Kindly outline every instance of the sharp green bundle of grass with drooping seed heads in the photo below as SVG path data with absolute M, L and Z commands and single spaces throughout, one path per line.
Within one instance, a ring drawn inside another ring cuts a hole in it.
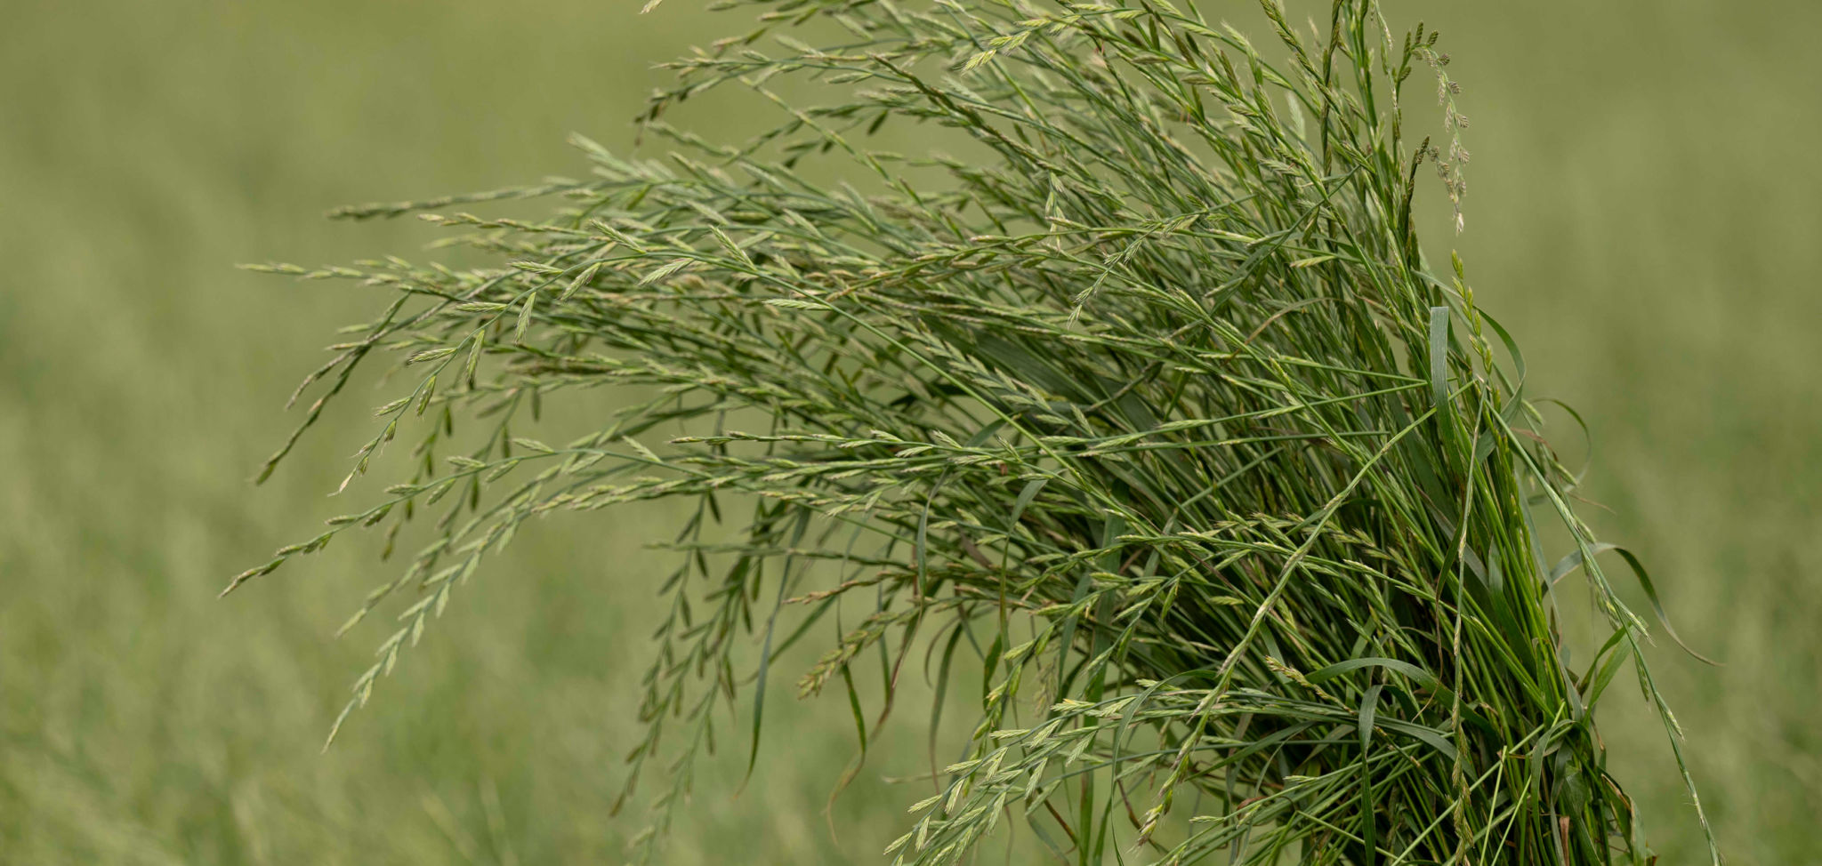
M 1434 33 L 1394 38 L 1370 0 L 1308 31 L 1266 0 L 1266 53 L 1170 0 L 722 5 L 758 25 L 676 64 L 643 116 L 667 160 L 583 140 L 587 180 L 343 211 L 425 213 L 499 266 L 266 266 L 395 295 L 304 382 L 304 428 L 375 351 L 415 382 L 350 480 L 419 426 L 410 475 L 233 582 L 434 524 L 355 615 L 417 593 L 350 710 L 527 519 L 680 498 L 630 755 L 667 777 L 647 853 L 712 710 L 738 700 L 758 750 L 769 668 L 829 635 L 800 688 L 845 691 L 862 742 L 907 660 L 984 679 L 895 862 L 1013 819 L 1084 864 L 1653 859 L 1592 722 L 1631 660 L 1676 748 L 1645 626 L 1518 347 L 1412 229 L 1423 164 L 1459 215 L 1467 162 Z M 1403 144 L 1414 73 L 1445 147 Z M 838 96 L 791 107 L 793 76 Z M 723 86 L 782 122 L 722 146 L 661 120 Z M 871 147 L 906 124 L 967 156 Z M 517 196 L 565 204 L 448 215 Z M 609 424 L 514 435 L 607 384 L 638 395 Z M 1554 564 L 1538 515 L 1569 529 Z M 1572 670 L 1551 604 L 1576 569 L 1611 639 Z

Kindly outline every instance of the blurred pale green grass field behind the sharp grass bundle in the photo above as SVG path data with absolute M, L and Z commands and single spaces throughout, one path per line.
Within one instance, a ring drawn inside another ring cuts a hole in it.
M 330 633 L 390 566 L 352 544 L 215 591 L 348 509 L 324 493 L 366 431 L 357 406 L 381 402 L 344 400 L 251 488 L 295 422 L 290 386 L 377 298 L 231 264 L 414 253 L 432 237 L 415 222 L 319 215 L 578 171 L 568 131 L 629 147 L 650 64 L 740 24 L 696 0 L 634 5 L 7 7 L 0 862 L 619 857 L 640 821 L 607 811 L 663 568 L 640 546 L 665 513 L 521 537 L 328 755 L 375 642 Z M 1592 522 L 1645 557 L 1684 637 L 1727 662 L 1700 668 L 1667 640 L 1653 655 L 1722 844 L 1735 862 L 1811 862 L 1822 7 L 1387 5 L 1456 56 L 1474 120 L 1456 244 L 1525 346 L 1534 393 L 1594 429 L 1589 491 L 1611 511 Z M 1250 2 L 1204 9 L 1263 31 Z M 1436 257 L 1450 238 L 1427 242 Z M 824 799 L 851 726 L 838 700 L 789 700 L 789 680 L 774 677 L 760 775 L 736 797 L 743 744 L 722 751 L 676 862 L 869 862 L 922 797 L 878 780 L 922 762 L 904 719 L 904 746 L 836 804 L 831 839 Z M 1614 771 L 1663 862 L 1700 862 L 1662 730 L 1636 699 L 1611 706 Z

